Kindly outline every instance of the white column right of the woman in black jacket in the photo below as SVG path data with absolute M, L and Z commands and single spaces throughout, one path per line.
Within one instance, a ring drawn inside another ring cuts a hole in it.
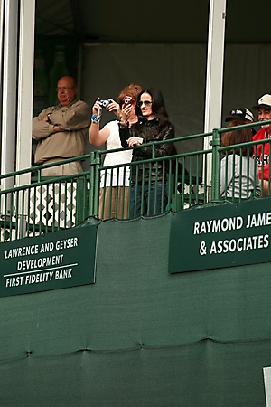
M 210 0 L 206 73 L 204 132 L 220 128 L 223 99 L 223 67 L 227 0 Z M 205 137 L 204 149 L 210 148 L 211 137 Z M 204 179 L 204 178 L 203 178 Z M 211 161 L 207 158 L 207 186 L 211 181 Z

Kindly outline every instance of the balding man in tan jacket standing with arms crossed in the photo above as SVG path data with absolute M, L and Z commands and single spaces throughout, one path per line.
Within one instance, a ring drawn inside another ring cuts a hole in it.
M 85 154 L 86 133 L 89 128 L 89 106 L 76 99 L 77 86 L 70 76 L 58 81 L 59 104 L 43 109 L 33 118 L 32 137 L 38 140 L 34 161 L 36 165 L 50 164 Z M 79 161 L 42 169 L 42 175 L 71 175 L 82 172 Z

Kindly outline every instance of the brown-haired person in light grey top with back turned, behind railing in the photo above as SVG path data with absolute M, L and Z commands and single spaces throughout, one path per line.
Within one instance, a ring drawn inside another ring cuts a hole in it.
M 230 130 L 235 126 L 240 126 L 238 120 L 231 120 L 228 128 L 229 132 L 222 137 L 222 147 L 229 147 L 236 144 L 248 143 L 252 141 L 250 128 L 240 128 Z M 249 198 L 259 196 L 261 189 L 257 177 L 255 161 L 251 158 L 253 147 L 230 148 L 225 151 L 225 156 L 220 162 L 220 194 L 226 198 Z

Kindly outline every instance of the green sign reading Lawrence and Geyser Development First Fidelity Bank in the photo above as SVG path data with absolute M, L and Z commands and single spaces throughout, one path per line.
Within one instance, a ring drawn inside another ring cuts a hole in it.
M 0 243 L 0 296 L 95 282 L 97 227 Z

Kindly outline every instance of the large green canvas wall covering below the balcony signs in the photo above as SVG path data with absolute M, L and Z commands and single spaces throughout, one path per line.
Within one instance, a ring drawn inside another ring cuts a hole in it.
M 1 407 L 266 406 L 270 264 L 169 274 L 171 219 L 102 222 L 95 284 L 0 298 Z

